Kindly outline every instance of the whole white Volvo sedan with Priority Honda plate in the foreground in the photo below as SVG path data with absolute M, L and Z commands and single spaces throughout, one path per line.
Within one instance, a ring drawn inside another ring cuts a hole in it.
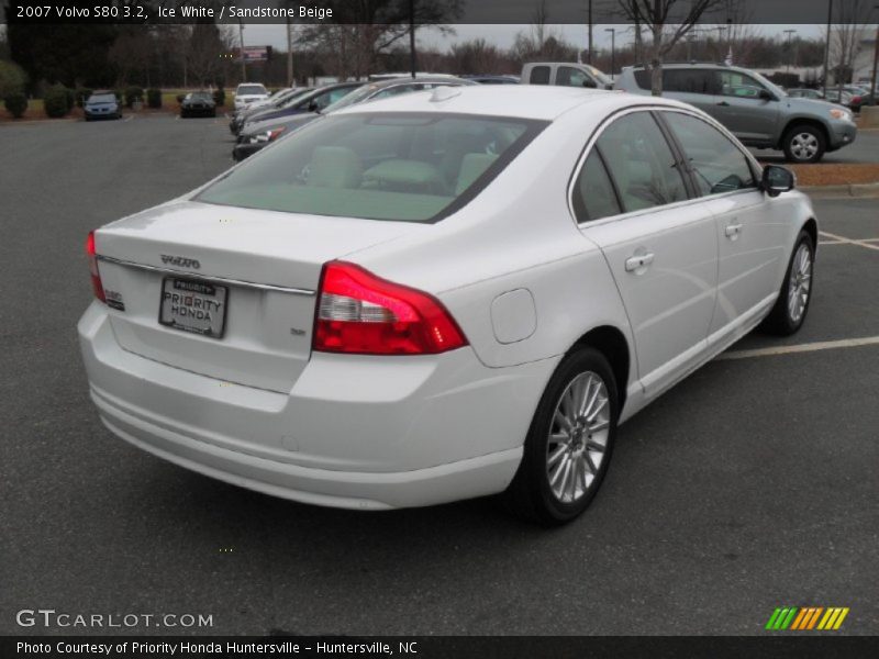
M 126 442 L 296 501 L 581 513 L 620 423 L 805 317 L 817 225 L 682 103 L 455 88 L 326 116 L 94 231 L 79 322 Z

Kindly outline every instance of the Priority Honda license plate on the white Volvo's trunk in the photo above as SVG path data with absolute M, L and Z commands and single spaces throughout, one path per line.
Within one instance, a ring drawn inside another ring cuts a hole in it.
M 229 292 L 227 286 L 211 281 L 188 277 L 164 277 L 158 304 L 158 323 L 179 332 L 221 339 L 226 330 Z M 175 294 L 179 298 L 175 299 Z M 209 317 L 203 317 L 205 314 L 209 314 Z

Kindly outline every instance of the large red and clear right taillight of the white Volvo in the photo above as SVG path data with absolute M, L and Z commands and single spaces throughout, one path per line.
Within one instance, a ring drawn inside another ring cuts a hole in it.
M 324 353 L 434 355 L 467 345 L 436 298 L 344 261 L 324 266 L 315 315 L 313 348 Z

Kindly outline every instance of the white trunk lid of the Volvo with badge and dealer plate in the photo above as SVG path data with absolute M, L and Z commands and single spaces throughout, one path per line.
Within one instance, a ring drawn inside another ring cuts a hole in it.
M 183 201 L 103 227 L 96 242 L 124 349 L 287 392 L 311 354 L 323 264 L 418 228 Z

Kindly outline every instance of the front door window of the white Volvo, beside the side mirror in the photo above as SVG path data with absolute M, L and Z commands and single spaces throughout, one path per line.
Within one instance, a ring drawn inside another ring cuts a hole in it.
M 680 112 L 664 112 L 663 116 L 690 161 L 701 196 L 757 187 L 748 159 L 717 129 Z

